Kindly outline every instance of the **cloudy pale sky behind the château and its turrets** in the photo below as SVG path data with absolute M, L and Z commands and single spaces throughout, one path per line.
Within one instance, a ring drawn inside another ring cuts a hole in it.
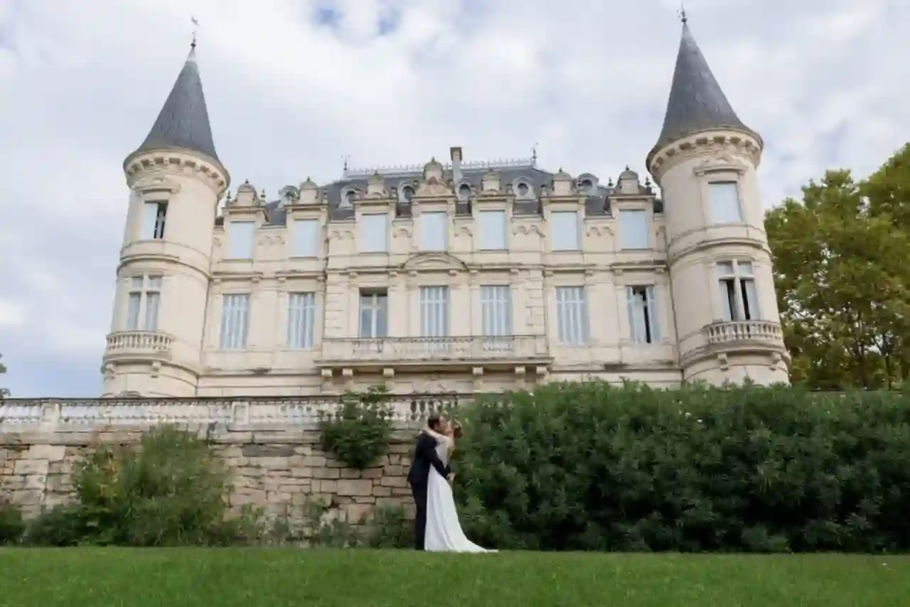
M 94 396 L 127 190 L 187 55 L 218 156 L 274 195 L 353 165 L 527 157 L 644 173 L 678 0 L 0 0 L 0 386 Z M 687 0 L 693 35 L 765 141 L 765 206 L 908 137 L 907 0 Z

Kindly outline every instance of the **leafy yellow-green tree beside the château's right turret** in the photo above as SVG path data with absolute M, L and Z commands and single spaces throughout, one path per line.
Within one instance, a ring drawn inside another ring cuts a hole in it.
M 802 201 L 766 214 L 795 381 L 875 388 L 910 375 L 910 207 L 893 196 L 904 184 L 893 173 L 856 183 L 848 170 L 827 171 Z

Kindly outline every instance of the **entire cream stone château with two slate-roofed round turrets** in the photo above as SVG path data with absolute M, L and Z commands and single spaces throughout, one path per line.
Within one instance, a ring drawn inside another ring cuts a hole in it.
M 785 382 L 762 151 L 683 25 L 653 183 L 451 147 L 445 165 L 232 195 L 194 50 L 124 163 L 102 391 Z

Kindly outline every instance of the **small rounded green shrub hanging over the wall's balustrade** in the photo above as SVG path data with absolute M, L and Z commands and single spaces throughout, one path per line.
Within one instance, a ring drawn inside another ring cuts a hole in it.
M 349 392 L 336 410 L 319 420 L 322 448 L 349 468 L 369 468 L 389 448 L 391 409 L 385 391 Z

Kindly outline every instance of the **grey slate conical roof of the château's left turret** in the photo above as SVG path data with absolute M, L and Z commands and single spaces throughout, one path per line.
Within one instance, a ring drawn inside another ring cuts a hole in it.
M 218 160 L 196 63 L 195 42 L 155 125 L 136 152 L 162 148 L 185 149 Z

